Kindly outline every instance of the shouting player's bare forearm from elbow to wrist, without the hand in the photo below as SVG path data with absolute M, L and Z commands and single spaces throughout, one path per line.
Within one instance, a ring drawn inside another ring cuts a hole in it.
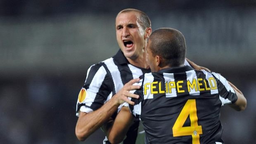
M 91 113 L 80 113 L 76 124 L 76 136 L 80 141 L 87 139 L 114 114 L 119 105 L 109 100 L 100 109 Z

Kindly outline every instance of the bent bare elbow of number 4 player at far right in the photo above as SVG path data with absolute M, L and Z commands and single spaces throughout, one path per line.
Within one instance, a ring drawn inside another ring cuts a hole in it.
M 243 111 L 247 106 L 247 100 L 244 97 L 244 94 L 232 83 L 228 82 L 230 86 L 235 90 L 237 94 L 237 101 L 234 104 L 230 104 L 230 107 L 235 109 L 236 111 Z

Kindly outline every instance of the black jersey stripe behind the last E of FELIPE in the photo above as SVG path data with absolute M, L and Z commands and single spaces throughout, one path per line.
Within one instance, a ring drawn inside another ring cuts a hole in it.
M 187 90 L 187 73 L 186 72 L 173 73 L 173 75 L 174 75 L 174 80 L 175 80 L 175 84 L 176 84 L 177 97 L 188 96 L 189 92 Z

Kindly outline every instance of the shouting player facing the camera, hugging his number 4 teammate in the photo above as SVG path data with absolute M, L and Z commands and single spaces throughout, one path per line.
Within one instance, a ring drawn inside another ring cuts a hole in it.
M 121 109 L 116 100 L 133 104 L 127 97 L 137 95 L 129 91 L 140 87 L 133 83 L 138 82 L 136 78 L 150 72 L 145 45 L 152 28 L 147 14 L 137 9 L 124 9 L 117 14 L 115 26 L 120 50 L 113 57 L 90 66 L 78 95 L 76 136 L 81 141 L 100 127 L 108 135 L 116 113 Z M 185 64 L 190 65 L 187 61 Z M 194 67 L 201 68 L 195 64 Z M 124 144 L 135 144 L 138 125 L 139 119 L 135 118 L 126 133 Z M 104 143 L 109 142 L 105 139 Z

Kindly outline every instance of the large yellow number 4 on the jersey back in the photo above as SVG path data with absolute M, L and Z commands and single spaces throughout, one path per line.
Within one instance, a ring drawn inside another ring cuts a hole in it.
M 189 127 L 183 127 L 188 116 L 190 117 L 191 124 Z M 189 99 L 173 125 L 173 137 L 191 135 L 192 144 L 200 144 L 199 135 L 203 134 L 203 132 L 202 126 L 198 125 L 197 120 L 196 100 Z

